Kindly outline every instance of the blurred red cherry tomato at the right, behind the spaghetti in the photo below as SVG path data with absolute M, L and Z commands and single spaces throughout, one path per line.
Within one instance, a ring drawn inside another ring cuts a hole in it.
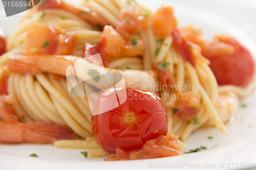
M 215 55 L 210 60 L 210 68 L 219 85 L 236 85 L 246 87 L 254 78 L 255 66 L 250 52 L 237 40 L 230 37 L 217 37 L 220 42 L 234 47 L 232 54 Z M 210 55 L 210 54 L 209 54 Z

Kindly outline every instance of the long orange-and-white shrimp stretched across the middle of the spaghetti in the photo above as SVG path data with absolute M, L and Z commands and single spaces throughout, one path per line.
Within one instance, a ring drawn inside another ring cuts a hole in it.
M 92 79 L 88 71 L 97 70 L 97 74 L 104 75 L 106 72 L 116 72 L 123 75 L 125 86 L 130 88 L 136 88 L 141 90 L 158 92 L 157 80 L 152 71 L 141 70 L 118 70 L 105 68 L 100 65 L 90 63 L 86 59 L 78 58 L 75 56 L 47 56 L 47 55 L 35 55 L 28 56 L 24 54 L 10 55 L 8 67 L 11 71 L 21 74 L 39 74 L 40 72 L 52 72 L 54 74 L 62 76 L 73 76 L 73 68 L 68 71 L 68 67 L 75 65 L 77 77 L 80 80 Z M 67 72 L 66 72 L 67 69 Z M 119 77 L 112 78 L 112 84 L 119 82 Z M 99 79 L 99 81 L 90 81 L 89 84 L 102 89 L 105 87 L 105 79 Z

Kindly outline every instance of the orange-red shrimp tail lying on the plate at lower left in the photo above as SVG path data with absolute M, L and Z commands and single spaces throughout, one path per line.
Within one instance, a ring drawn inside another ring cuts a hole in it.
M 54 123 L 0 123 L 0 142 L 4 143 L 52 143 L 55 140 L 76 137 L 77 135 L 70 128 Z

